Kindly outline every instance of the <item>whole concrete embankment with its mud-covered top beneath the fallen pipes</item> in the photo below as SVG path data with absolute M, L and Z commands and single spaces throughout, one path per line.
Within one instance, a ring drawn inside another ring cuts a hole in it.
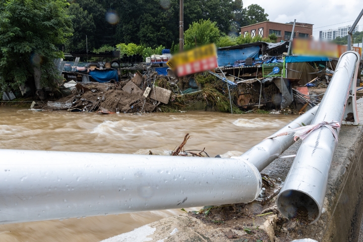
M 274 207 L 276 196 L 270 192 L 274 198 L 263 204 L 257 201 L 213 207 L 201 210 L 198 215 L 169 217 L 104 241 L 291 241 L 299 238 L 358 241 L 363 212 L 363 98 L 357 102 L 360 123 L 341 128 L 323 213 L 315 224 L 307 224 L 304 214 L 291 220 L 284 218 Z M 296 142 L 282 156 L 296 154 L 300 144 Z M 284 180 L 293 159 L 278 158 L 261 173 Z

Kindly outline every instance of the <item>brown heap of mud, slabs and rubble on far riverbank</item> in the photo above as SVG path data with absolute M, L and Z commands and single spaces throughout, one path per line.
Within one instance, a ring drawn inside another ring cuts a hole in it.
M 57 101 L 37 102 L 34 109 L 67 109 L 68 111 L 111 113 L 153 112 L 169 102 L 171 91 L 154 85 L 158 76 L 137 73 L 132 79 L 117 83 L 64 83 L 71 93 Z M 159 80 L 159 79 L 158 79 Z M 163 80 L 163 78 L 160 78 Z

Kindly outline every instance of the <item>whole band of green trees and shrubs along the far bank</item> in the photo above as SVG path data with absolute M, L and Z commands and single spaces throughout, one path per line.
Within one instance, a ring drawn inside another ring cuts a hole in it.
M 184 0 L 186 47 L 260 41 L 233 36 L 241 26 L 267 16 L 258 5 L 244 9 L 242 0 Z M 95 52 L 118 49 L 144 57 L 160 54 L 164 47 L 175 52 L 178 26 L 179 0 L 2 0 L 0 88 L 32 81 L 34 68 L 42 73 L 42 87 L 55 86 L 53 60 L 63 56 L 60 50 L 88 46 Z

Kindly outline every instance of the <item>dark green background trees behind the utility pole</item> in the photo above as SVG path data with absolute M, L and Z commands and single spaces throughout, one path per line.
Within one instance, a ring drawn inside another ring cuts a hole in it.
M 179 0 L 77 0 L 68 14 L 74 16 L 77 35 L 69 39 L 66 51 L 75 46 L 85 50 L 86 35 L 89 49 L 118 43 L 177 49 L 173 43 L 179 42 Z M 194 22 L 209 19 L 221 34 L 231 35 L 267 16 L 256 4 L 244 9 L 242 0 L 184 0 L 185 31 Z

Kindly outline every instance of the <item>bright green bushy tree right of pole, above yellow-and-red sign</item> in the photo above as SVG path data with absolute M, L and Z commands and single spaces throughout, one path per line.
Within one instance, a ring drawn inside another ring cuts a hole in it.
M 211 22 L 209 19 L 201 19 L 198 22 L 193 22 L 184 34 L 186 49 L 192 48 L 193 46 L 216 43 L 219 36 L 220 33 L 216 22 Z

